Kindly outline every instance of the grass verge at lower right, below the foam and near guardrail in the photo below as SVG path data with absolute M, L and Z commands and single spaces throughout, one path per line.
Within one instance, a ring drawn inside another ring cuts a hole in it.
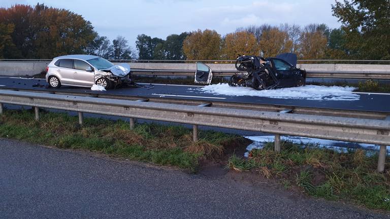
M 390 159 L 386 171 L 377 173 L 377 156 L 366 156 L 363 150 L 337 153 L 320 149 L 317 144 L 295 144 L 282 141 L 281 153 L 273 142 L 262 150 L 253 150 L 248 159 L 232 156 L 232 170 L 257 170 L 289 188 L 295 185 L 307 194 L 330 200 L 346 199 L 369 208 L 390 211 Z

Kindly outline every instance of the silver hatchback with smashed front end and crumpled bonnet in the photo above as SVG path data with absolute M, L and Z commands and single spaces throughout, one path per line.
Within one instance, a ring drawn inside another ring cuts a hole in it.
M 114 65 L 93 55 L 66 55 L 55 57 L 46 67 L 46 82 L 50 87 L 61 85 L 91 87 L 101 85 L 105 89 L 131 83 L 130 66 Z

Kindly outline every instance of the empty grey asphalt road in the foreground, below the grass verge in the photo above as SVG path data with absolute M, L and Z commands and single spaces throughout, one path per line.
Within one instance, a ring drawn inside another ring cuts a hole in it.
M 0 138 L 0 218 L 388 218 L 252 187 L 228 174 L 63 151 Z

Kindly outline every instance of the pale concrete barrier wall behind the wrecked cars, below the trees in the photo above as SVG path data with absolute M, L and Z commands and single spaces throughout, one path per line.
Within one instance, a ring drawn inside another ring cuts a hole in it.
M 0 76 L 32 76 L 45 70 L 44 61 L 0 61 Z M 129 63 L 132 68 L 195 70 L 194 63 Z M 236 70 L 234 64 L 208 64 L 213 70 Z M 386 71 L 390 65 L 383 64 L 298 64 L 309 71 Z

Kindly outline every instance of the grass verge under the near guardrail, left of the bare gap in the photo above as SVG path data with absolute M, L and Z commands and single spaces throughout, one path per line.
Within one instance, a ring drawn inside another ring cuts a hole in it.
M 0 137 L 51 145 L 62 149 L 81 149 L 113 156 L 197 170 L 200 158 L 211 159 L 242 137 L 201 131 L 200 141 L 192 142 L 192 132 L 182 126 L 155 123 L 136 124 L 131 130 L 122 121 L 78 118 L 68 114 L 40 113 L 34 120 L 31 111 L 8 111 L 0 116 Z

